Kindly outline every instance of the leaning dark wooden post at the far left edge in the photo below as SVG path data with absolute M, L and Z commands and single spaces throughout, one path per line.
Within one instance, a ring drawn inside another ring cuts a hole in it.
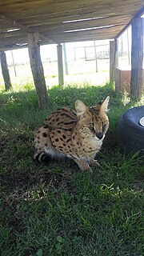
M 0 54 L 0 57 L 1 57 L 2 75 L 3 75 L 3 80 L 5 82 L 5 89 L 10 90 L 10 88 L 12 88 L 12 86 L 11 86 L 11 82 L 10 82 L 9 69 L 8 69 L 7 62 L 6 62 L 6 53 L 4 51 L 2 51 Z

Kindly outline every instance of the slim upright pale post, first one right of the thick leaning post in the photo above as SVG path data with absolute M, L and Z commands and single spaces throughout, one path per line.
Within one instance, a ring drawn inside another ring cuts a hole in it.
M 58 84 L 63 86 L 64 78 L 63 78 L 63 62 L 62 62 L 62 45 L 57 46 L 58 53 Z

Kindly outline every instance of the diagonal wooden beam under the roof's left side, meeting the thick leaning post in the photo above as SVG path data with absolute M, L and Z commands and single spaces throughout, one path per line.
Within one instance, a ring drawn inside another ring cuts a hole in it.
M 24 25 L 22 25 L 21 23 L 16 22 L 16 21 L 14 21 L 14 20 L 11 19 L 11 18 L 6 17 L 5 15 L 0 14 L 0 19 L 2 19 L 4 22 L 9 23 L 9 25 L 10 25 L 10 26 L 13 26 L 14 28 L 15 28 L 15 27 L 20 28 L 22 31 L 24 31 L 24 32 L 26 32 L 26 33 L 35 33 L 35 32 L 37 32 L 37 31 L 31 29 L 31 28 L 28 27 L 28 26 L 24 26 Z M 49 41 L 52 42 L 52 43 L 59 43 L 59 42 L 56 42 L 55 40 L 53 40 L 53 38 L 50 38 L 49 36 L 46 36 L 46 35 L 44 35 L 44 34 L 42 34 L 42 33 L 39 33 L 39 36 L 40 36 L 41 38 L 44 38 L 45 40 L 49 40 Z

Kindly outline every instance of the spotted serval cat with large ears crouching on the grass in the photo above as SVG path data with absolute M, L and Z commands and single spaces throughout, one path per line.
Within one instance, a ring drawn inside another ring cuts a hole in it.
M 34 134 L 34 159 L 42 162 L 46 158 L 66 156 L 72 158 L 81 170 L 92 171 L 92 166 L 98 166 L 94 157 L 109 126 L 108 102 L 109 96 L 98 105 L 87 108 L 77 100 L 76 111 L 62 108 L 48 115 Z

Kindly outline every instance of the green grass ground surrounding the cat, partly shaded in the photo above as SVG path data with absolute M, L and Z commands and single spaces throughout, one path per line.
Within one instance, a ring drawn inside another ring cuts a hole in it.
M 2 256 L 142 256 L 143 162 L 116 142 L 130 102 L 106 86 L 54 86 L 38 110 L 32 84 L 0 94 L 0 250 Z M 98 154 L 100 171 L 86 174 L 70 160 L 33 161 L 34 130 L 59 106 L 94 105 L 110 95 L 110 129 Z

